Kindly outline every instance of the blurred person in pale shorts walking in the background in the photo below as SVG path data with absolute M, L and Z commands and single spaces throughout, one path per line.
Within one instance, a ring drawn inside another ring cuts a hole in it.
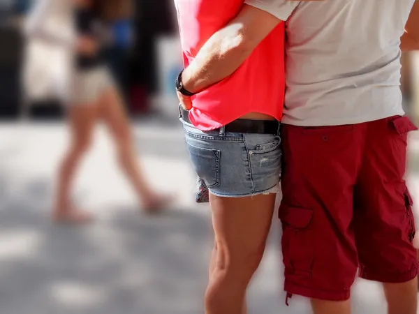
M 53 219 L 57 222 L 83 223 L 93 218 L 87 211 L 77 209 L 73 205 L 70 192 L 75 172 L 91 145 L 94 126 L 99 119 L 103 120 L 110 130 L 119 163 L 133 184 L 142 208 L 149 213 L 161 209 L 168 204 L 170 197 L 156 193 L 140 169 L 122 98 L 103 57 L 104 45 L 112 40 L 108 25 L 113 20 L 131 14 L 130 1 L 67 1 L 65 4 L 71 5 L 66 8 L 73 15 L 72 22 L 75 27 L 75 38 L 64 40 L 68 49 L 73 50 L 74 57 L 69 99 L 66 99 L 71 144 L 59 167 Z M 37 15 L 34 20 L 38 23 L 42 23 L 43 17 L 48 13 L 52 4 L 48 2 L 51 1 L 43 1 L 33 11 Z M 57 43 L 57 38 L 48 35 L 45 32 L 34 33 L 34 36 L 46 37 Z M 58 41 L 62 39 L 58 38 Z

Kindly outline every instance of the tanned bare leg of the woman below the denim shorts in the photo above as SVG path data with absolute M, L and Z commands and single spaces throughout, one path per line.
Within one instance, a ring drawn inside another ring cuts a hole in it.
M 262 260 L 276 194 L 210 195 L 215 232 L 205 314 L 246 313 L 246 291 Z

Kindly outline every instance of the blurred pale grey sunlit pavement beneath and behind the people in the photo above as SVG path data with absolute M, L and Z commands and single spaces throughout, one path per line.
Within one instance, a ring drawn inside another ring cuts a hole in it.
M 195 178 L 176 121 L 139 121 L 136 142 L 146 172 L 161 190 L 179 195 L 167 214 L 140 214 L 117 171 L 112 146 L 98 129 L 76 200 L 95 211 L 89 227 L 48 220 L 54 170 L 66 145 L 61 124 L 0 126 L 1 314 L 197 314 L 212 234 L 208 209 L 193 203 Z M 419 136 L 411 154 L 419 173 Z M 413 151 L 416 153 L 413 154 Z M 409 176 L 413 192 L 419 175 Z M 250 313 L 309 313 L 307 301 L 284 305 L 279 225 L 249 293 Z M 353 313 L 385 313 L 378 285 L 358 281 Z

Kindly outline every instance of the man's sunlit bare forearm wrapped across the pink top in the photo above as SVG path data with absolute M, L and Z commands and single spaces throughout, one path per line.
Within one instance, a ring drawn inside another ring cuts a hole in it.
M 184 70 L 184 87 L 198 92 L 228 77 L 279 22 L 265 10 L 245 4 L 235 19 L 214 33 Z

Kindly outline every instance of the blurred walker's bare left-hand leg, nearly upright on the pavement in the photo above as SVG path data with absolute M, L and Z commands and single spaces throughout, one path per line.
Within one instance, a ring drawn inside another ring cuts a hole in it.
M 68 110 L 71 143 L 59 167 L 54 220 L 84 222 L 91 216 L 73 207 L 70 200 L 71 184 L 80 160 L 90 147 L 91 135 L 98 118 L 98 105 L 74 105 Z

